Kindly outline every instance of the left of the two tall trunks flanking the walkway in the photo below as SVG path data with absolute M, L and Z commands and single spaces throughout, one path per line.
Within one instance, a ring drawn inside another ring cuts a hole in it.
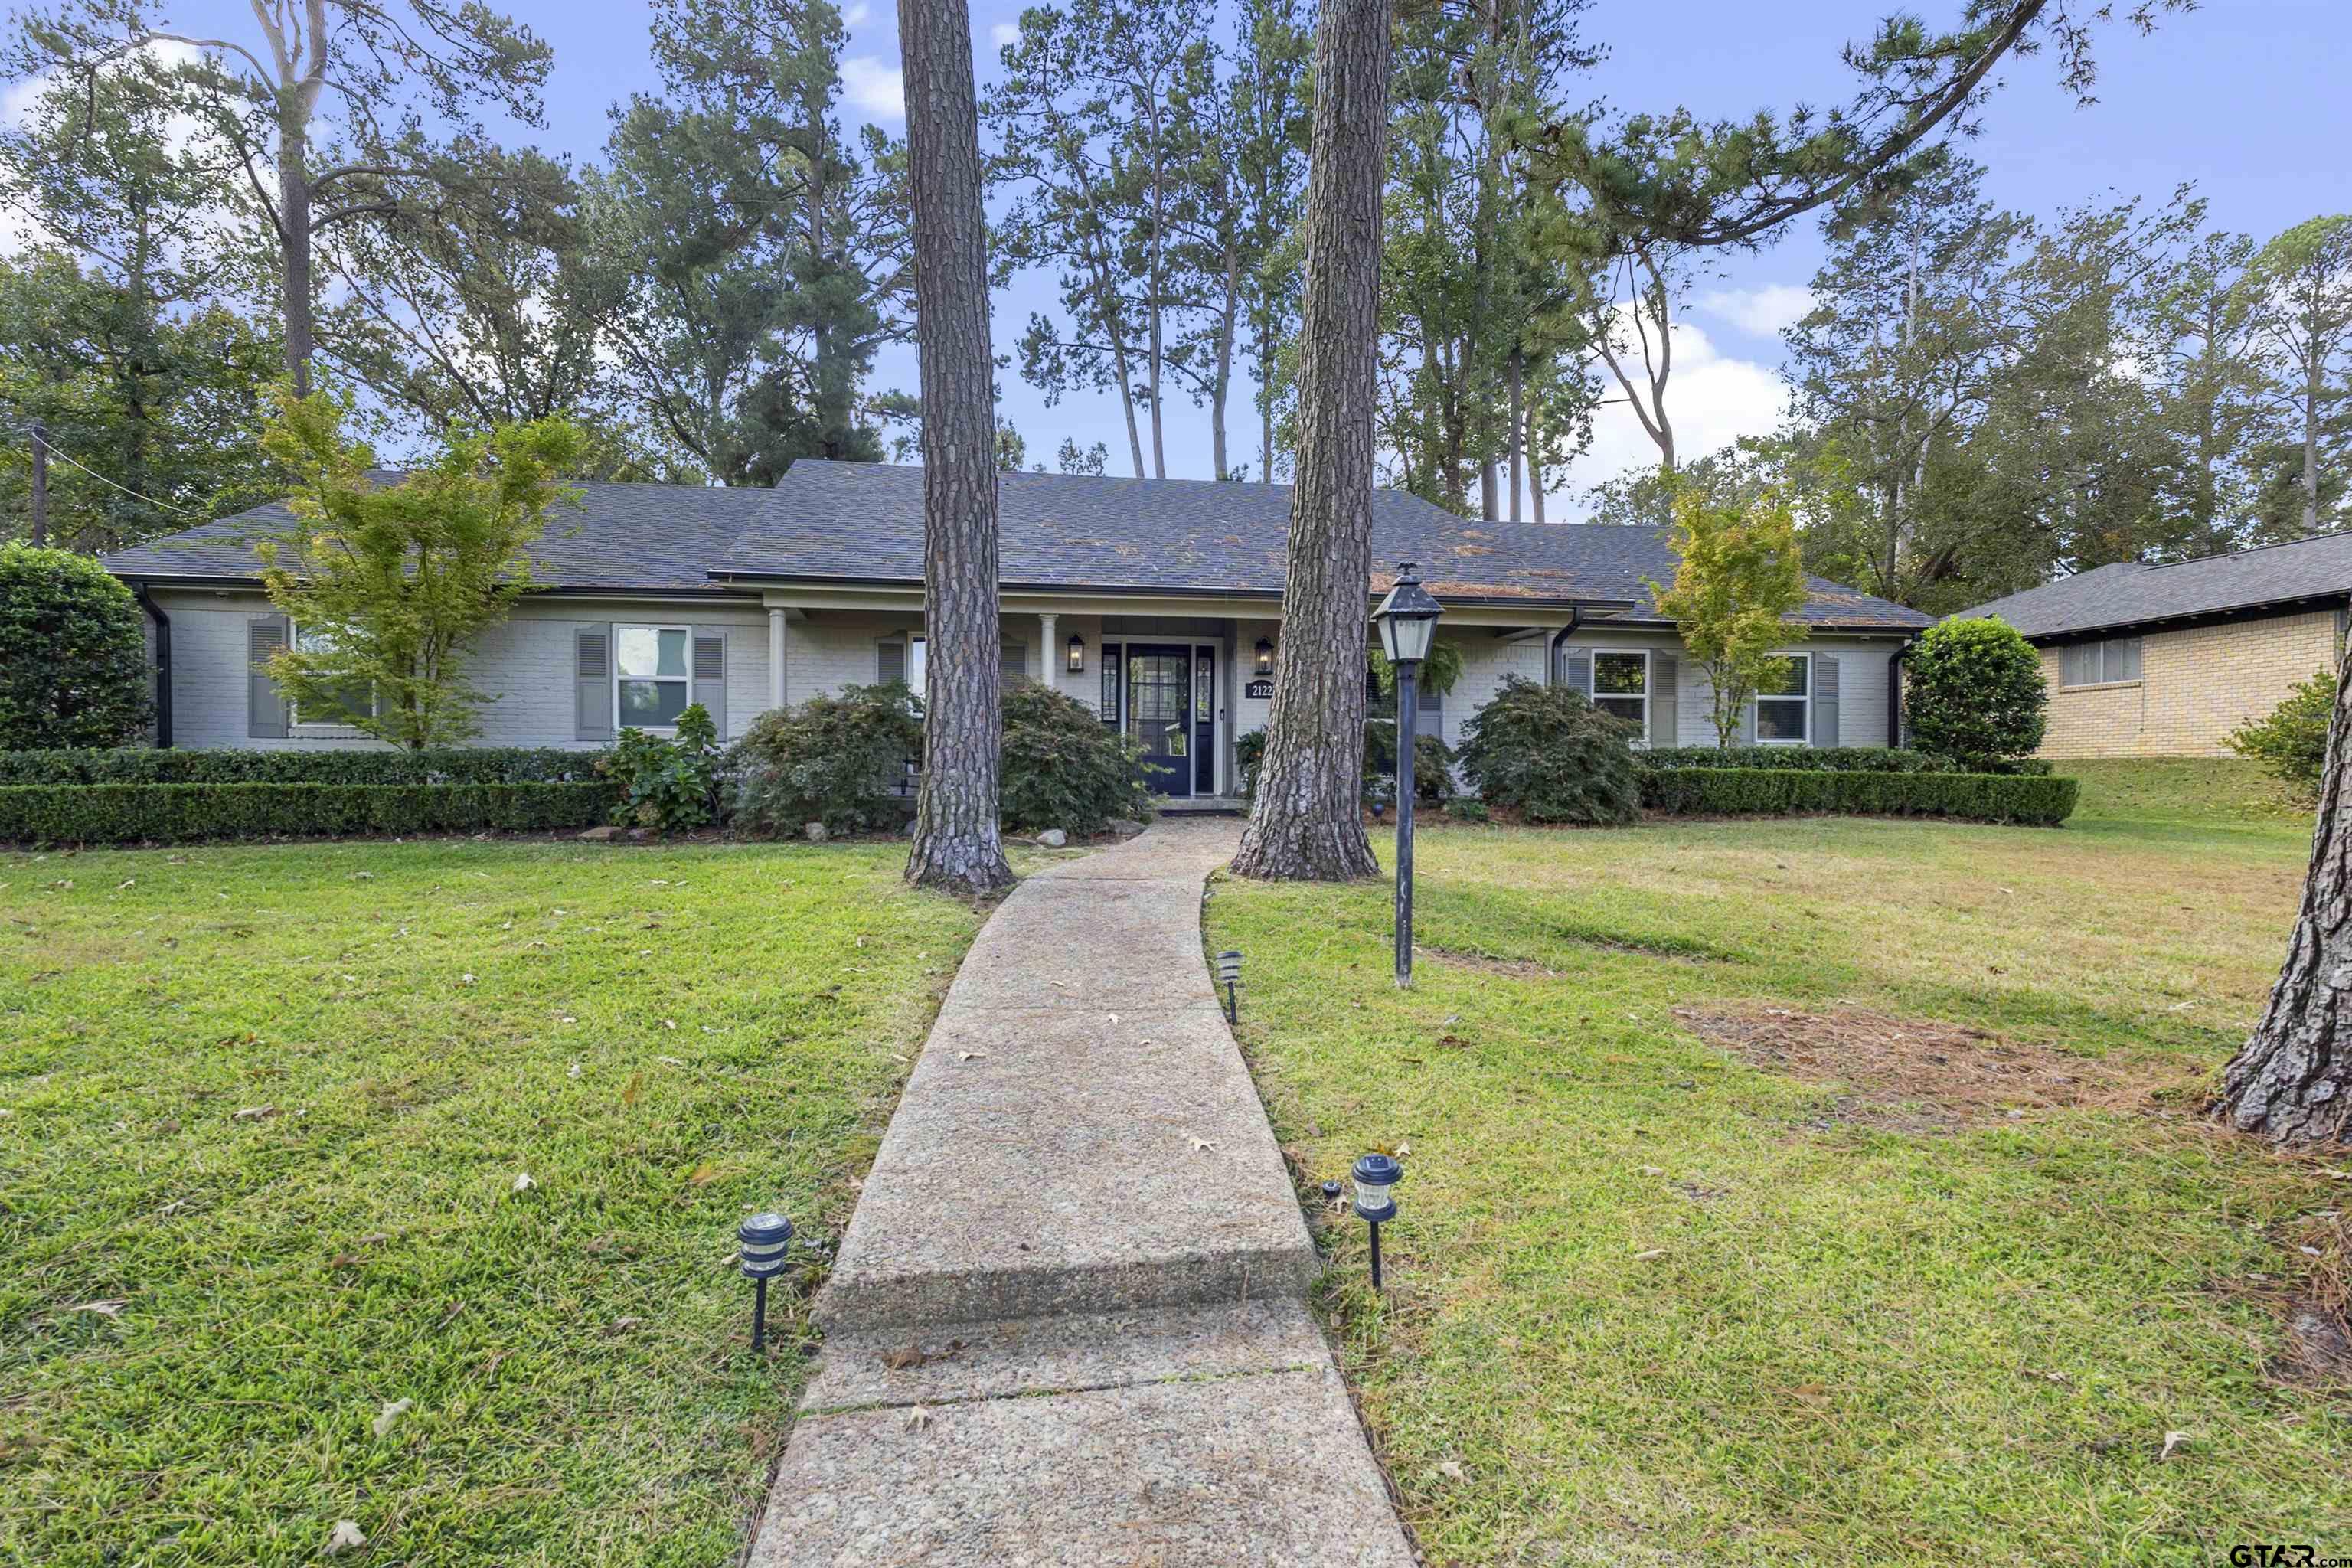
M 922 792 L 906 877 L 953 893 L 1011 886 L 997 835 L 997 409 L 988 346 L 981 118 L 964 0 L 898 0 L 915 357 L 922 374 Z

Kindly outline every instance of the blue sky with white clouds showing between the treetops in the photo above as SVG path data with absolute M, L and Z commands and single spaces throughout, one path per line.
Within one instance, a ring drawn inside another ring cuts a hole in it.
M 896 9 L 889 0 L 842 5 L 849 21 L 842 118 L 898 132 Z M 508 7 L 555 47 L 541 143 L 597 158 L 607 108 L 656 85 L 649 12 L 579 0 L 508 0 Z M 1945 21 L 1959 0 L 1915 0 L 1915 7 L 1929 21 Z M 1583 26 L 1590 40 L 1609 45 L 1609 59 L 1590 85 L 1616 106 L 1686 103 L 1705 115 L 1835 103 L 1844 96 L 1839 45 L 1867 35 L 1882 9 L 1886 0 L 1595 0 Z M 2086 0 L 2077 9 L 2089 9 Z M 983 82 L 995 75 L 997 42 L 1018 12 L 1011 0 L 976 0 Z M 247 7 L 235 0 L 174 7 L 172 19 L 221 26 L 230 38 L 252 31 Z M 1971 155 L 1990 169 L 1992 200 L 2023 212 L 2046 216 L 2110 193 L 2161 200 L 2194 181 L 2213 223 L 2267 237 L 2352 207 L 2347 59 L 2352 0 L 2206 0 L 2199 12 L 2166 16 L 2152 38 L 2103 28 L 2100 101 L 2091 108 L 2077 108 L 2058 87 L 2049 56 L 2011 61 Z M 1708 451 L 1776 423 L 1776 331 L 1802 313 L 1818 259 L 1818 233 L 1799 226 L 1762 254 L 1726 256 L 1719 277 L 1700 284 L 1668 393 L 1682 451 Z M 1018 280 L 1000 294 L 1000 348 L 1009 348 L 1030 308 L 1047 303 L 1047 280 Z M 913 348 L 887 355 L 877 381 L 915 390 Z M 1110 395 L 1049 409 L 1018 371 L 1007 371 L 1002 411 L 1028 437 L 1033 458 L 1051 458 L 1070 435 L 1080 444 L 1108 442 L 1112 473 L 1124 470 L 1124 433 Z M 1207 414 L 1176 404 L 1169 421 L 1169 473 L 1207 477 Z M 1232 421 L 1237 430 L 1251 423 L 1240 395 Z M 1630 414 L 1604 411 L 1592 456 L 1555 484 L 1562 505 L 1552 517 L 1573 517 L 1583 487 L 1651 456 Z

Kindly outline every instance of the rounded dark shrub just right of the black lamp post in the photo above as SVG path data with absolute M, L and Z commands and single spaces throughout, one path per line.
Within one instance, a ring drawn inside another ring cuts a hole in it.
M 1613 827 L 1642 813 L 1635 731 L 1581 691 L 1510 675 L 1463 724 L 1461 771 L 1479 799 L 1529 823 Z

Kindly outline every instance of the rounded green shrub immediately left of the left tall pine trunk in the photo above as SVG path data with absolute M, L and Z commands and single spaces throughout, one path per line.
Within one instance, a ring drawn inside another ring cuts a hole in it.
M 753 832 L 896 827 L 894 788 L 922 757 L 922 708 L 906 682 L 842 686 L 797 708 L 762 712 L 734 743 L 736 825 Z

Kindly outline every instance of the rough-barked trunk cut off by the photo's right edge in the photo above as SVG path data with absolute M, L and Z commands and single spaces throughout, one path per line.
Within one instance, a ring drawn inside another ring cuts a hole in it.
M 2352 1140 L 2352 780 L 2345 722 L 2352 658 L 2338 656 L 2336 719 L 2319 783 L 2319 823 L 2286 966 L 2263 1023 L 2223 1072 L 2213 1114 L 2277 1143 Z

